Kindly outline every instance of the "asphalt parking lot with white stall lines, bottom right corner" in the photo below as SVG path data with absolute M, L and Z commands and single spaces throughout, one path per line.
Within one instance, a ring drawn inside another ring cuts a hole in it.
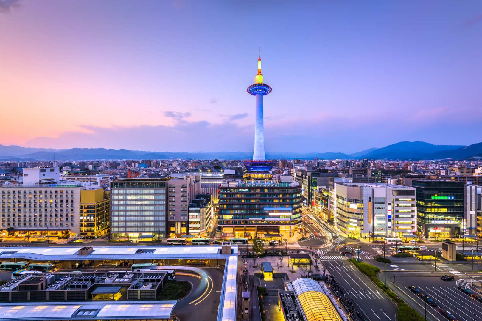
M 430 273 L 429 275 L 414 273 L 397 276 L 395 283 L 411 298 L 412 302 L 407 302 L 409 304 L 415 303 L 424 307 L 424 300 L 409 289 L 410 285 L 416 286 L 424 295 L 430 296 L 437 306 L 432 307 L 427 304 L 427 316 L 431 314 L 435 320 L 448 319 L 442 314 L 442 311 L 449 311 L 459 321 L 482 320 L 482 302 L 460 291 L 456 284 L 458 278 L 455 278 L 454 281 L 442 281 L 440 279 L 442 275 L 443 273 Z

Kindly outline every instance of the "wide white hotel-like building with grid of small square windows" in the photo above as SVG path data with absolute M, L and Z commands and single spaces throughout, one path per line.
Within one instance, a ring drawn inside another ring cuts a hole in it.
M 4 183 L 1 194 L 1 234 L 62 236 L 79 233 L 82 190 L 93 183 L 59 181 L 58 167 L 24 168 L 23 183 Z

